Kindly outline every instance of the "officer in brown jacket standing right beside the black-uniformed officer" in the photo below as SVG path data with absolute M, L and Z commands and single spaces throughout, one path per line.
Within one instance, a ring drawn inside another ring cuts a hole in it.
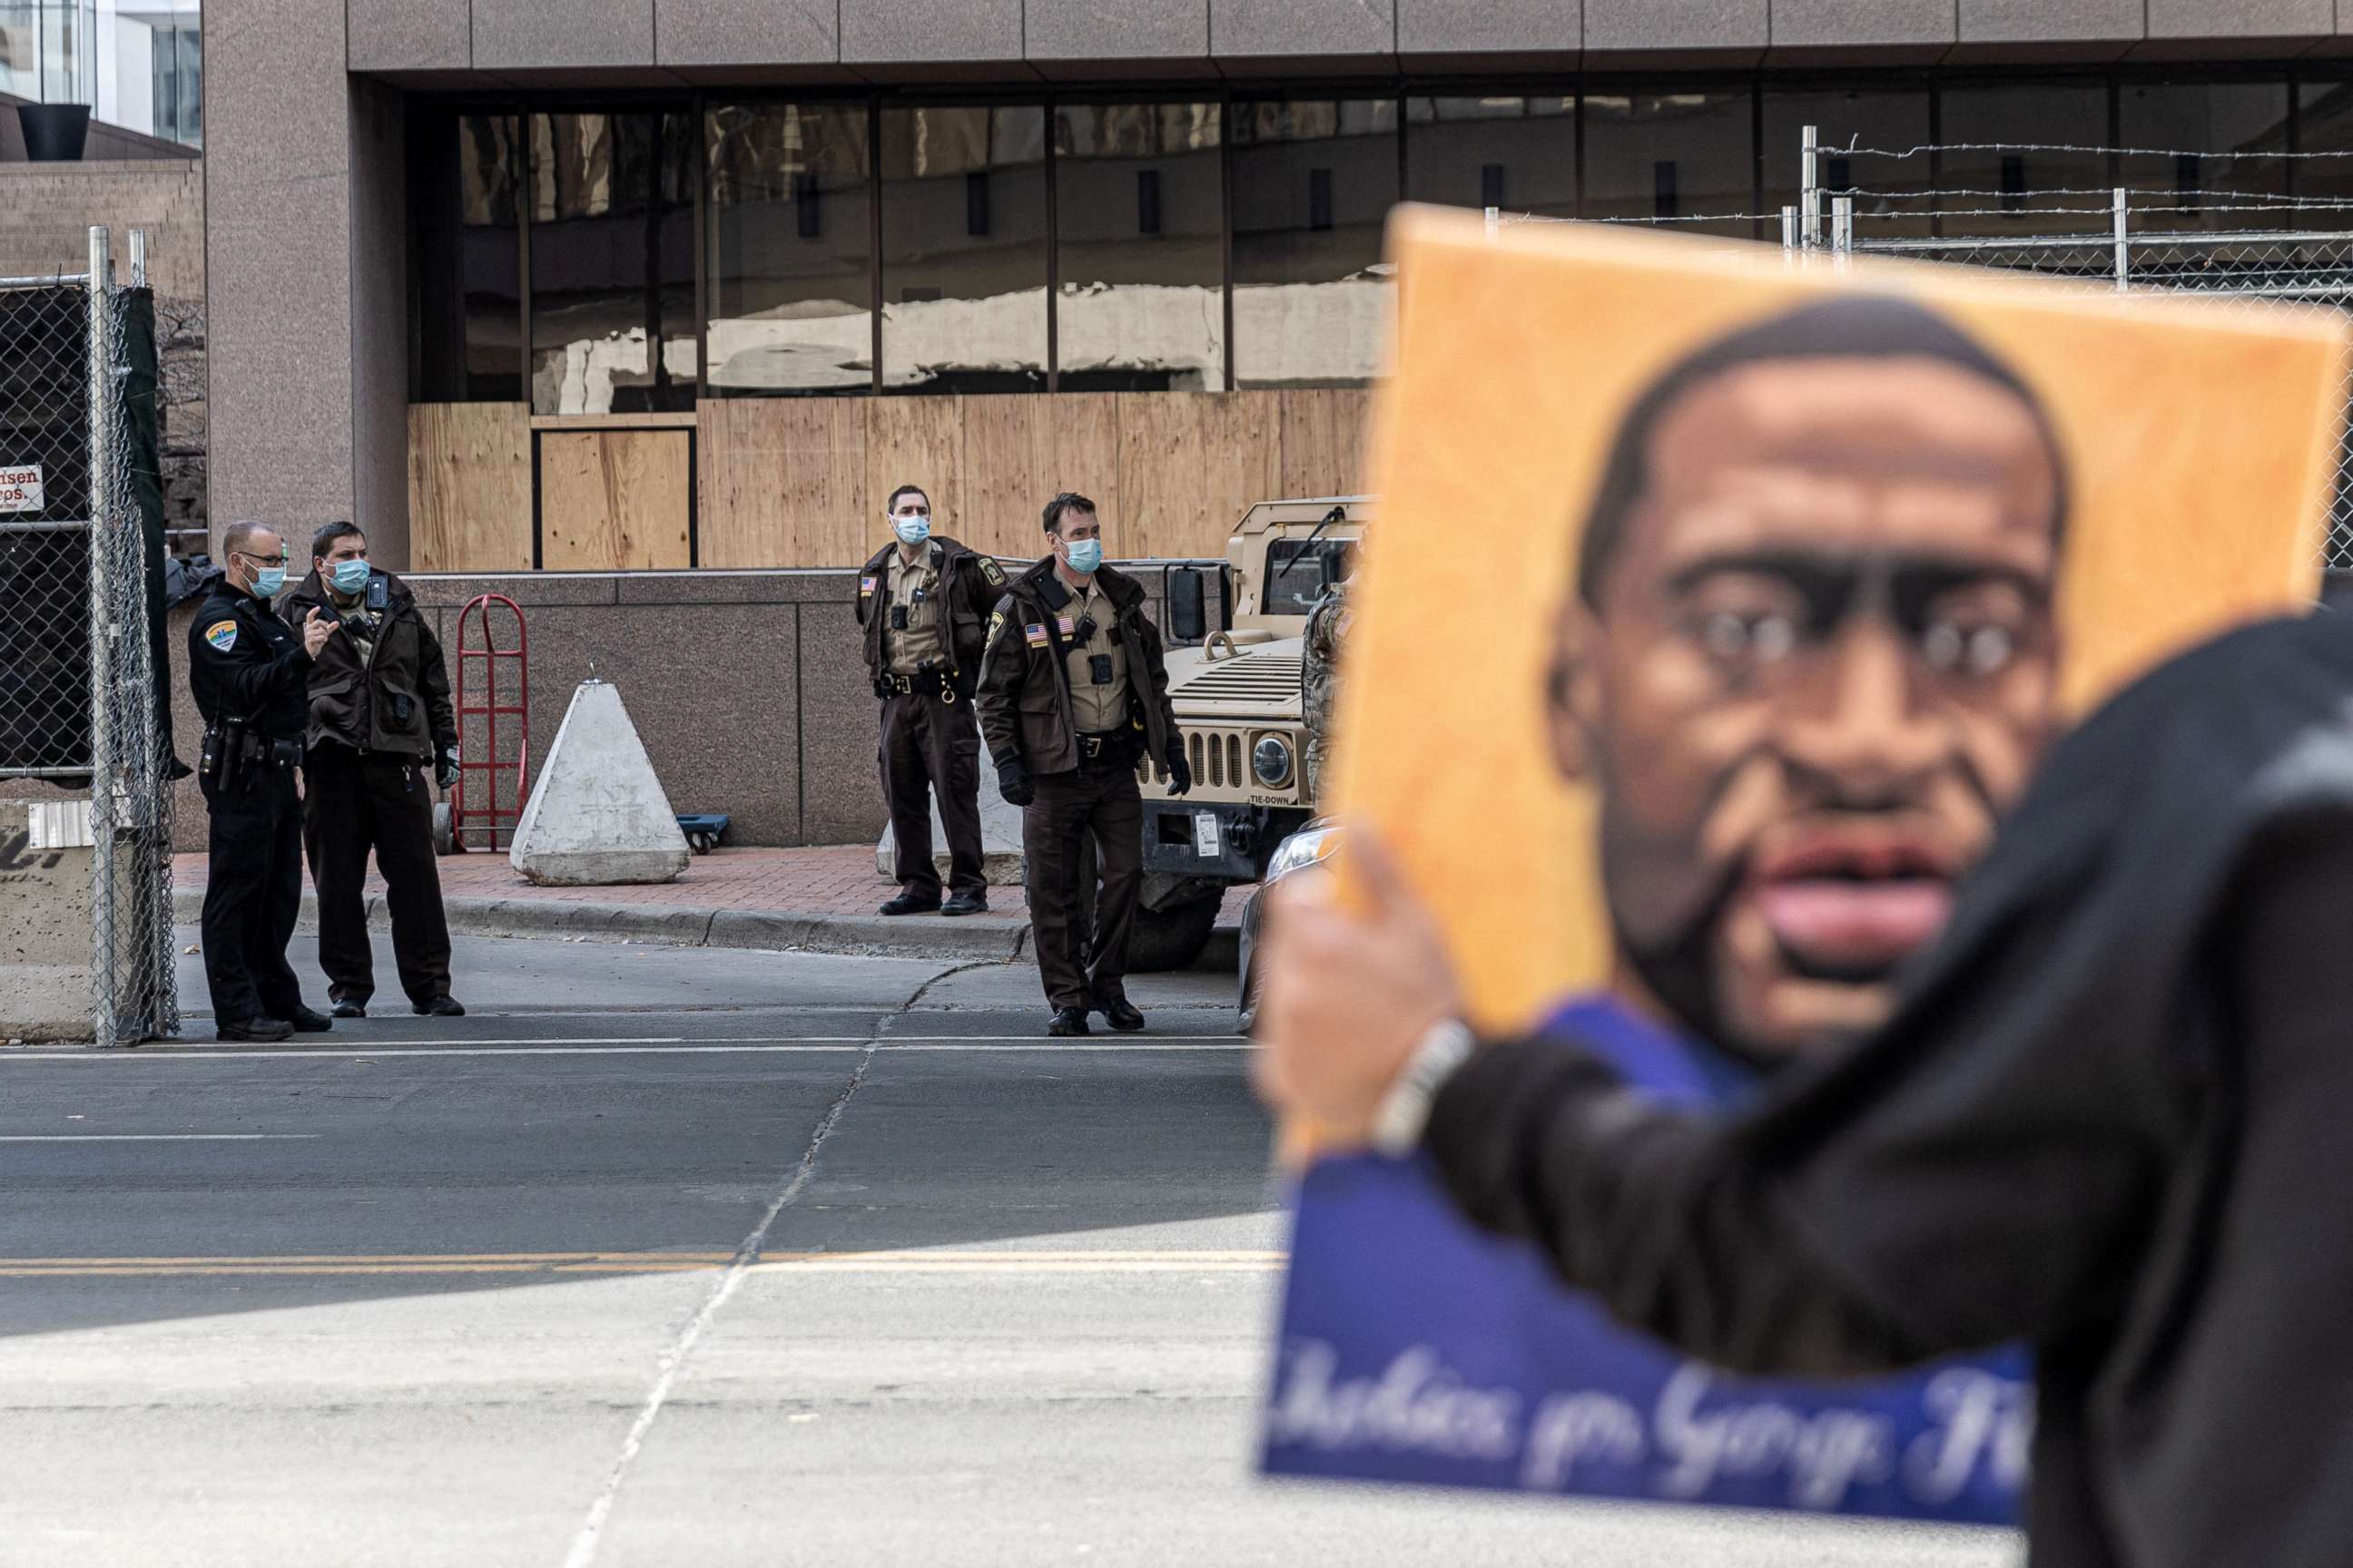
M 407 585 L 369 567 L 367 534 L 351 522 L 311 536 L 311 576 L 287 595 L 287 618 L 311 611 L 334 623 L 311 665 L 304 738 L 304 849 L 327 997 L 336 1018 L 367 1018 L 376 992 L 362 898 L 374 851 L 400 990 L 416 1013 L 459 1018 L 426 790 L 428 769 L 442 790 L 456 783 L 456 708 L 440 642 Z

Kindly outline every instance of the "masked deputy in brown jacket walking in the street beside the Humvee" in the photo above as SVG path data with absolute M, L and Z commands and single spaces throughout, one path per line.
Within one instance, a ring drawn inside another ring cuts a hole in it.
M 1141 1030 L 1127 1001 L 1127 936 L 1144 882 L 1144 797 L 1136 762 L 1160 757 L 1169 790 L 1193 790 L 1169 708 L 1160 628 L 1144 585 L 1104 564 L 1094 503 L 1064 491 L 1045 508 L 1054 552 L 1016 576 L 988 618 L 981 733 L 998 790 L 1021 806 L 1031 929 L 1054 1020 L 1047 1034 Z M 1080 966 L 1080 844 L 1094 832 L 1104 884 L 1094 900 L 1094 969 Z

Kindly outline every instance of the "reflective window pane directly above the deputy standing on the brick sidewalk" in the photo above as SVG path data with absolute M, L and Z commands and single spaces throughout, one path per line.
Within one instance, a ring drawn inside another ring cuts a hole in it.
M 1045 390 L 1045 106 L 882 110 L 882 388 Z

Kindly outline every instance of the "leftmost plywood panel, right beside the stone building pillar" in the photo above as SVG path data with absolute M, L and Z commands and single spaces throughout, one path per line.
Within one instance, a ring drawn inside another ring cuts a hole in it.
M 529 569 L 529 404 L 412 404 L 409 571 Z

